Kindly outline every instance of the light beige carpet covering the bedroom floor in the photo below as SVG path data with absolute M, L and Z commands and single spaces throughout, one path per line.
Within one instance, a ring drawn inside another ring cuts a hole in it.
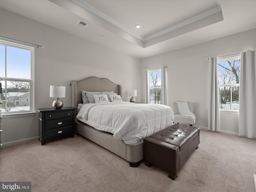
M 201 130 L 200 145 L 176 180 L 75 135 L 4 147 L 0 178 L 32 182 L 32 192 L 253 192 L 256 140 Z

